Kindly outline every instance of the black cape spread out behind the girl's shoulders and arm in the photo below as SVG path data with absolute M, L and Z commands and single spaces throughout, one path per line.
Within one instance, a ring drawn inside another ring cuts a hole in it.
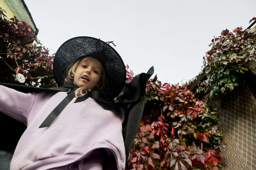
M 136 132 L 138 131 L 140 120 L 143 114 L 143 109 L 145 106 L 145 85 L 147 83 L 147 80 L 150 78 L 150 76 L 152 76 L 153 73 L 154 67 L 150 67 L 147 73 L 138 74 L 131 81 L 126 81 L 124 89 L 118 95 L 118 97 L 116 97 L 114 103 L 108 103 L 100 99 L 100 97 L 97 95 L 91 96 L 95 98 L 95 101 L 97 101 L 97 103 L 99 103 L 103 108 L 111 110 L 116 114 L 118 114 L 117 112 L 120 106 L 124 106 L 127 108 L 124 123 L 122 125 L 126 157 L 128 157 L 131 150 L 131 146 L 136 136 Z M 10 87 L 20 92 L 46 91 L 56 93 L 68 92 L 68 90 L 70 90 L 68 86 L 46 89 L 41 87 L 29 87 L 10 83 L 0 83 L 0 85 Z M 77 99 L 79 98 L 80 97 L 78 97 Z M 24 126 L 20 122 L 17 122 L 16 120 L 12 120 L 12 118 L 6 117 L 6 115 L 2 113 L 0 114 L 0 129 L 2 139 L 0 140 L 0 157 L 6 157 L 7 159 L 8 157 L 12 157 L 12 153 L 14 152 L 15 146 L 17 145 L 17 141 L 19 140 L 21 134 L 25 131 L 26 126 Z

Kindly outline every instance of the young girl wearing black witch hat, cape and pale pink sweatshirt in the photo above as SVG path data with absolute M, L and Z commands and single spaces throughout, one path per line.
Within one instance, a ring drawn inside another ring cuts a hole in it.
M 54 57 L 57 89 L 24 93 L 0 85 L 0 111 L 27 125 L 10 169 L 124 169 L 152 74 L 125 85 L 125 73 L 111 46 L 77 37 Z

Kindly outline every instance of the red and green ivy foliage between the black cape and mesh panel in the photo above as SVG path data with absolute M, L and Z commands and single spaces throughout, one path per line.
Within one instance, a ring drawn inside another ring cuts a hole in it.
M 127 169 L 218 169 L 223 136 L 218 113 L 185 85 L 148 80 Z

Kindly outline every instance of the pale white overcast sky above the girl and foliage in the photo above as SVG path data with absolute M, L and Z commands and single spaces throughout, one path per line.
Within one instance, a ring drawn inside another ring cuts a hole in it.
M 135 74 L 151 66 L 162 83 L 184 83 L 200 73 L 205 52 L 223 29 L 246 29 L 255 0 L 25 0 L 38 39 L 55 53 L 67 39 L 114 41 Z

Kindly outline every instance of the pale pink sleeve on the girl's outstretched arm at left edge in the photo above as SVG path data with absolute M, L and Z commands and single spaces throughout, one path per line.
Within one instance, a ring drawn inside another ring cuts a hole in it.
M 0 85 L 0 111 L 24 122 L 35 102 L 35 94 L 26 94 Z

